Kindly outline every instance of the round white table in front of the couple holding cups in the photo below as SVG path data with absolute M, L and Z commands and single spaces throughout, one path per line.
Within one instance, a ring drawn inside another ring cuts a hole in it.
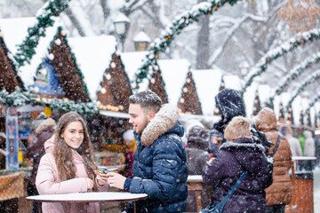
M 132 201 L 133 211 L 136 213 L 135 201 L 145 200 L 148 198 L 146 193 L 123 193 L 123 192 L 101 192 L 101 193 L 62 193 L 62 194 L 42 194 L 36 196 L 28 196 L 27 199 L 38 202 L 85 202 L 88 206 L 89 202 L 100 201 Z M 39 205 L 39 210 L 41 205 Z M 41 212 L 41 211 L 39 211 Z

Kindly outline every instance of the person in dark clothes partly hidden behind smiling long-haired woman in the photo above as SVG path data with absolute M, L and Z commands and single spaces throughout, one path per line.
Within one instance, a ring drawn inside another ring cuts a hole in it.
M 36 122 L 38 122 L 38 126 L 36 126 L 35 130 L 36 139 L 27 146 L 27 156 L 33 159 L 31 177 L 27 187 L 29 196 L 39 194 L 36 190 L 36 174 L 40 160 L 45 154 L 44 142 L 52 137 L 56 127 L 56 122 L 52 118 L 47 118 L 45 120 L 39 119 L 36 120 Z M 37 205 L 37 202 L 33 202 L 32 212 L 38 212 Z

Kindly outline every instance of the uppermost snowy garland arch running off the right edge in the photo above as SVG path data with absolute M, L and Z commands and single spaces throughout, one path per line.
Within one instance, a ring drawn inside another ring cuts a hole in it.
M 247 77 L 245 77 L 242 96 L 244 95 L 246 89 L 252 84 L 253 78 L 264 73 L 267 70 L 269 63 L 279 57 L 284 56 L 285 53 L 295 50 L 299 46 L 303 46 L 307 43 L 312 43 L 316 39 L 320 39 L 320 28 L 315 28 L 309 30 L 308 32 L 299 33 L 298 35 L 289 39 L 289 42 L 283 43 L 276 49 L 268 51 L 267 54 L 259 60 L 259 62 L 247 75 Z

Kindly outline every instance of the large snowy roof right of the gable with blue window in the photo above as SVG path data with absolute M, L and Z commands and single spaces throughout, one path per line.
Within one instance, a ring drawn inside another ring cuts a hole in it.
M 88 36 L 68 38 L 68 44 L 76 56 L 76 63 L 84 74 L 91 99 L 96 99 L 103 73 L 109 67 L 116 52 L 115 36 Z

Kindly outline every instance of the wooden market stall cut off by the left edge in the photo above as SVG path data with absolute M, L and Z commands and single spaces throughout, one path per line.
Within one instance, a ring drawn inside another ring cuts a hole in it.
M 4 42 L 4 33 L 0 29 L 0 91 L 9 95 L 16 90 L 24 90 L 12 53 Z M 19 170 L 19 138 L 16 110 L 0 101 L 0 212 L 16 212 L 20 197 L 25 195 L 23 172 Z

